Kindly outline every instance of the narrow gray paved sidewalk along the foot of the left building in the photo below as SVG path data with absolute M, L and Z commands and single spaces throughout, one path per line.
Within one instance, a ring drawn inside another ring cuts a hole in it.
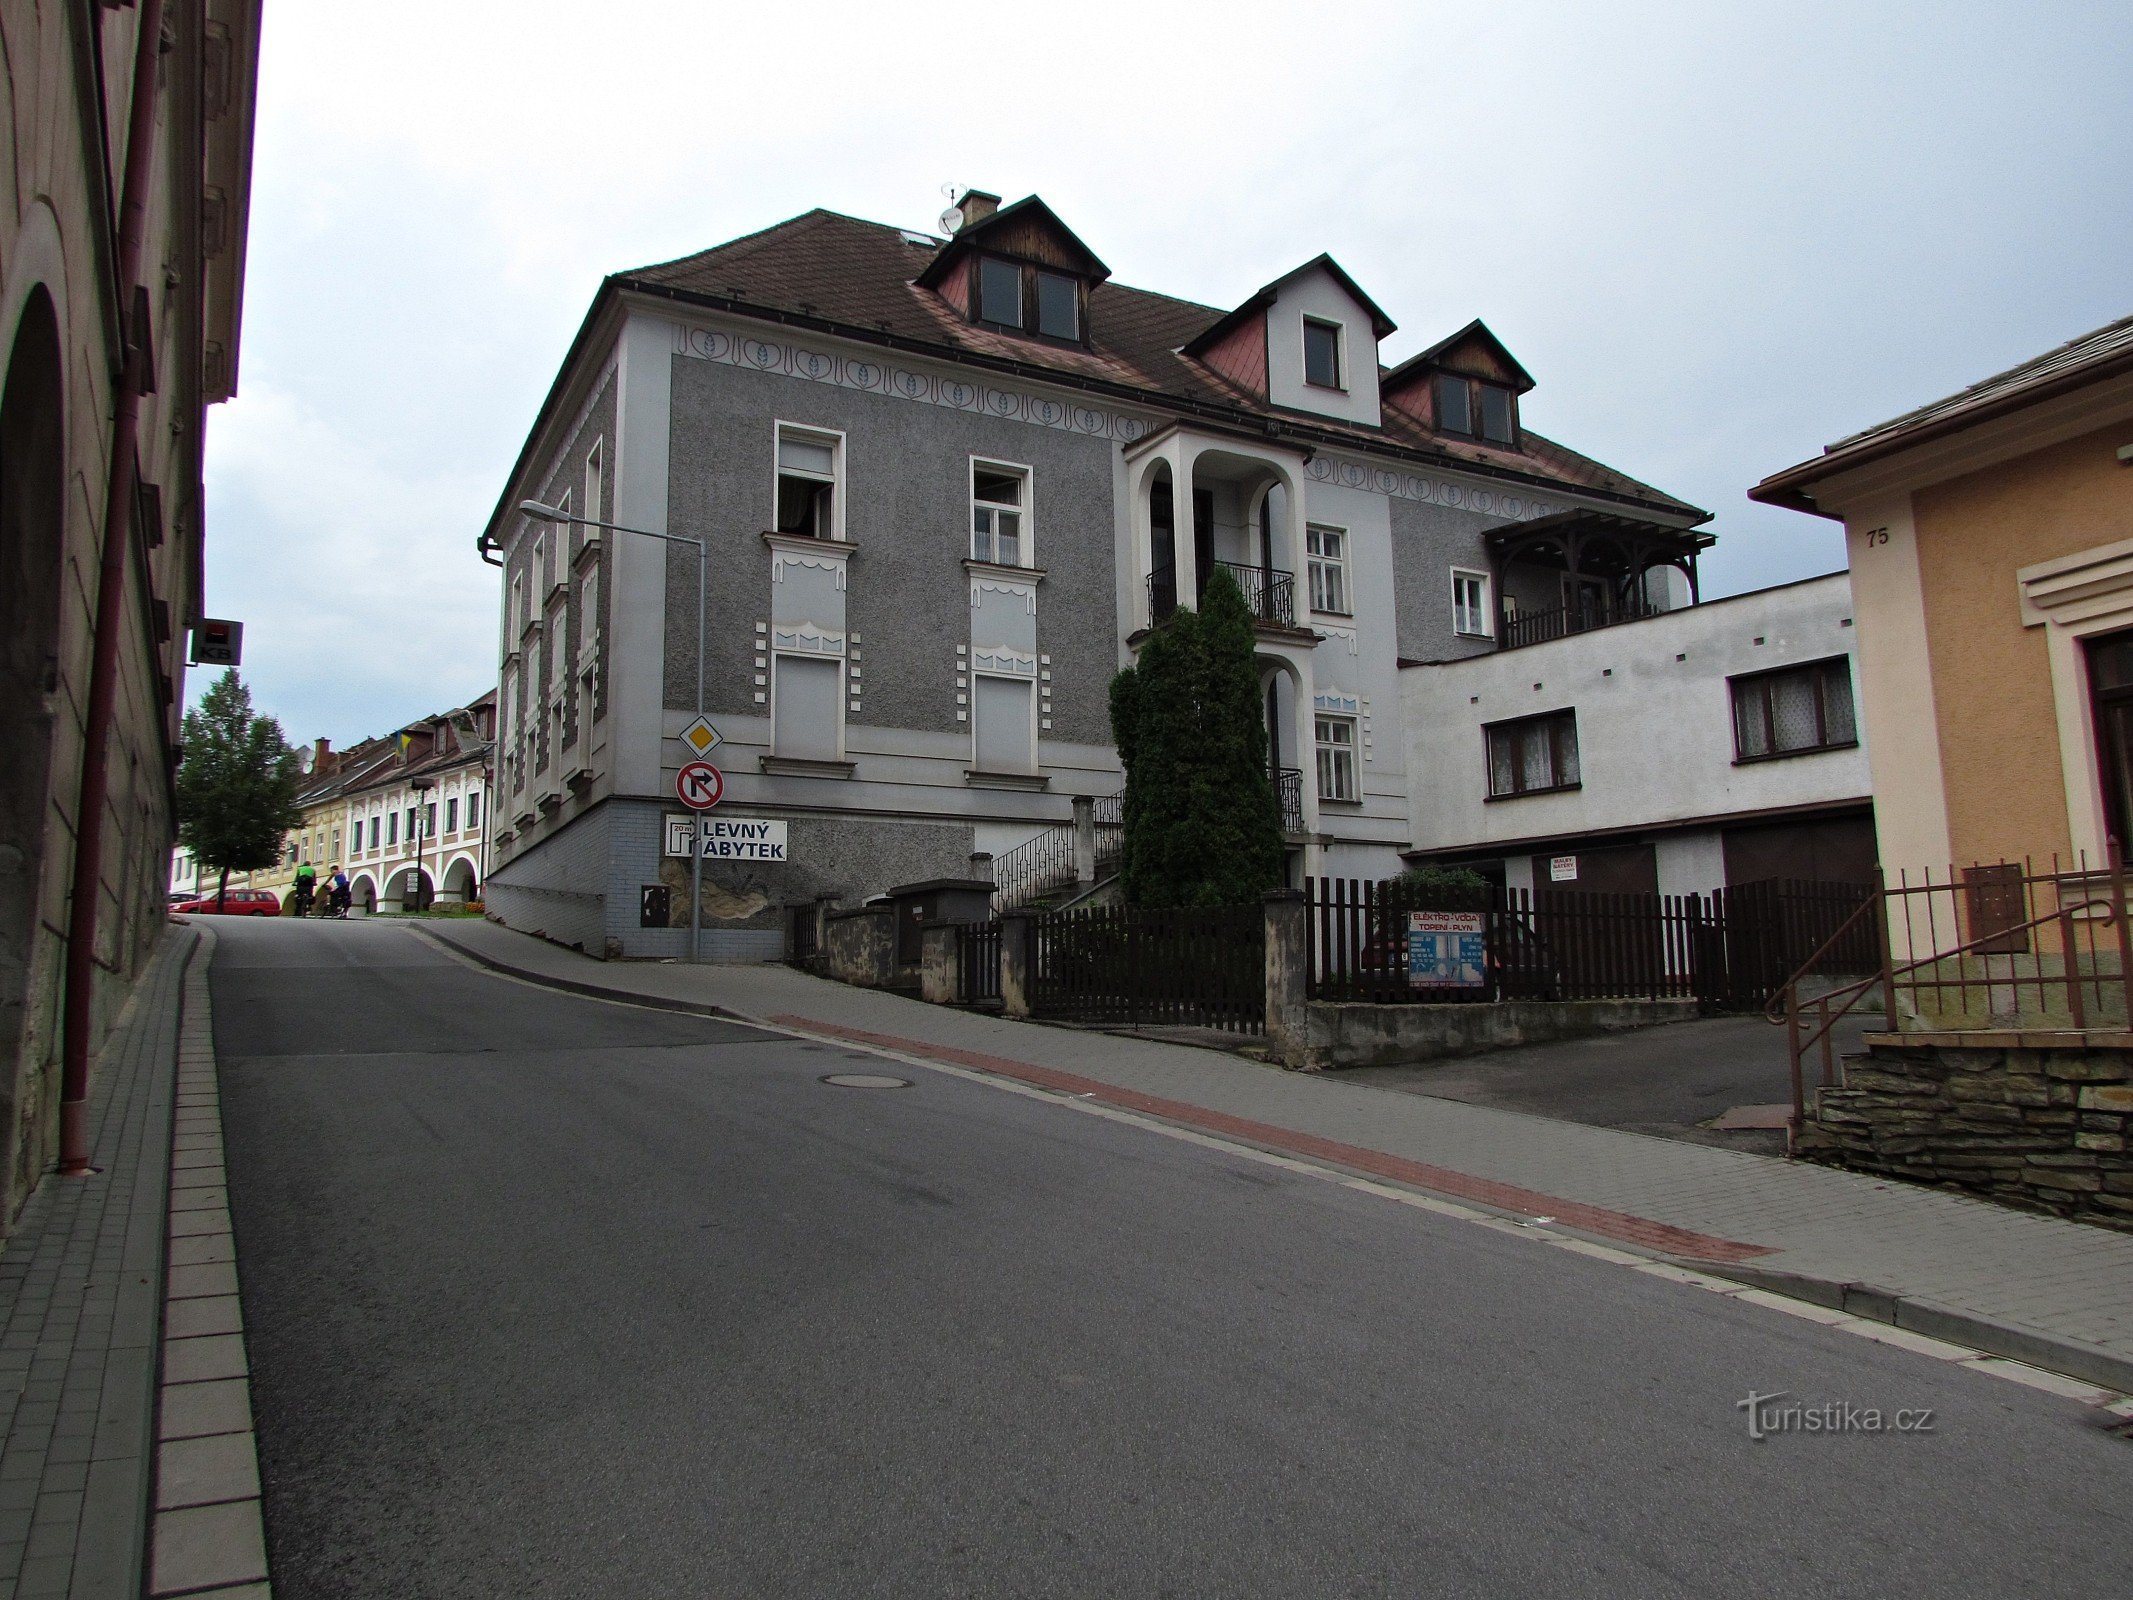
M 141 1594 L 179 992 L 173 926 L 90 1082 L 92 1178 L 49 1175 L 0 1250 L 0 1600 Z

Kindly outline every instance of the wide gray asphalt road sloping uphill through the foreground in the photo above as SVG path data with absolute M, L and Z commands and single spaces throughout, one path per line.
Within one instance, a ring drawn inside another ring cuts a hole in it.
M 284 1600 L 2127 1591 L 2073 1402 L 407 928 L 215 932 Z M 1935 1431 L 1753 1442 L 1751 1389 Z

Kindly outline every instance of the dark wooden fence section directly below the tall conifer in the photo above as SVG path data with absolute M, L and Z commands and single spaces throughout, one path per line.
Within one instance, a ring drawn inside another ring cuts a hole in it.
M 1265 1033 L 1263 907 L 1052 911 L 1030 939 L 1037 1015 Z

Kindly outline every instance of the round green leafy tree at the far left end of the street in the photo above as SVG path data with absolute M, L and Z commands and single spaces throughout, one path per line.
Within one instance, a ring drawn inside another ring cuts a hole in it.
M 224 672 L 186 713 L 186 759 L 177 768 L 177 836 L 211 866 L 215 905 L 230 873 L 256 873 L 282 860 L 282 838 L 303 826 L 296 809 L 296 751 L 282 723 L 252 713 L 252 691 Z

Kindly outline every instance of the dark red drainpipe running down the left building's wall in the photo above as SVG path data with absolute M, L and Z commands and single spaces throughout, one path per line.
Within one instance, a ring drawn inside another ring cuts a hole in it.
M 156 156 L 156 66 L 162 55 L 162 0 L 141 0 L 134 38 L 132 102 L 126 119 L 126 177 L 119 188 L 119 326 L 132 316 L 134 284 L 147 245 L 147 186 Z M 149 326 L 128 331 L 147 339 Z M 111 721 L 117 706 L 119 631 L 126 606 L 126 550 L 132 542 L 134 444 L 141 433 L 141 378 L 147 354 L 128 343 L 111 418 L 111 478 L 105 491 L 105 548 L 96 576 L 96 655 L 83 727 L 81 794 L 75 802 L 75 883 L 66 907 L 66 1035 L 60 1067 L 60 1171 L 90 1173 L 90 1022 L 96 986 L 96 909 L 105 877 L 105 800 L 111 794 Z

